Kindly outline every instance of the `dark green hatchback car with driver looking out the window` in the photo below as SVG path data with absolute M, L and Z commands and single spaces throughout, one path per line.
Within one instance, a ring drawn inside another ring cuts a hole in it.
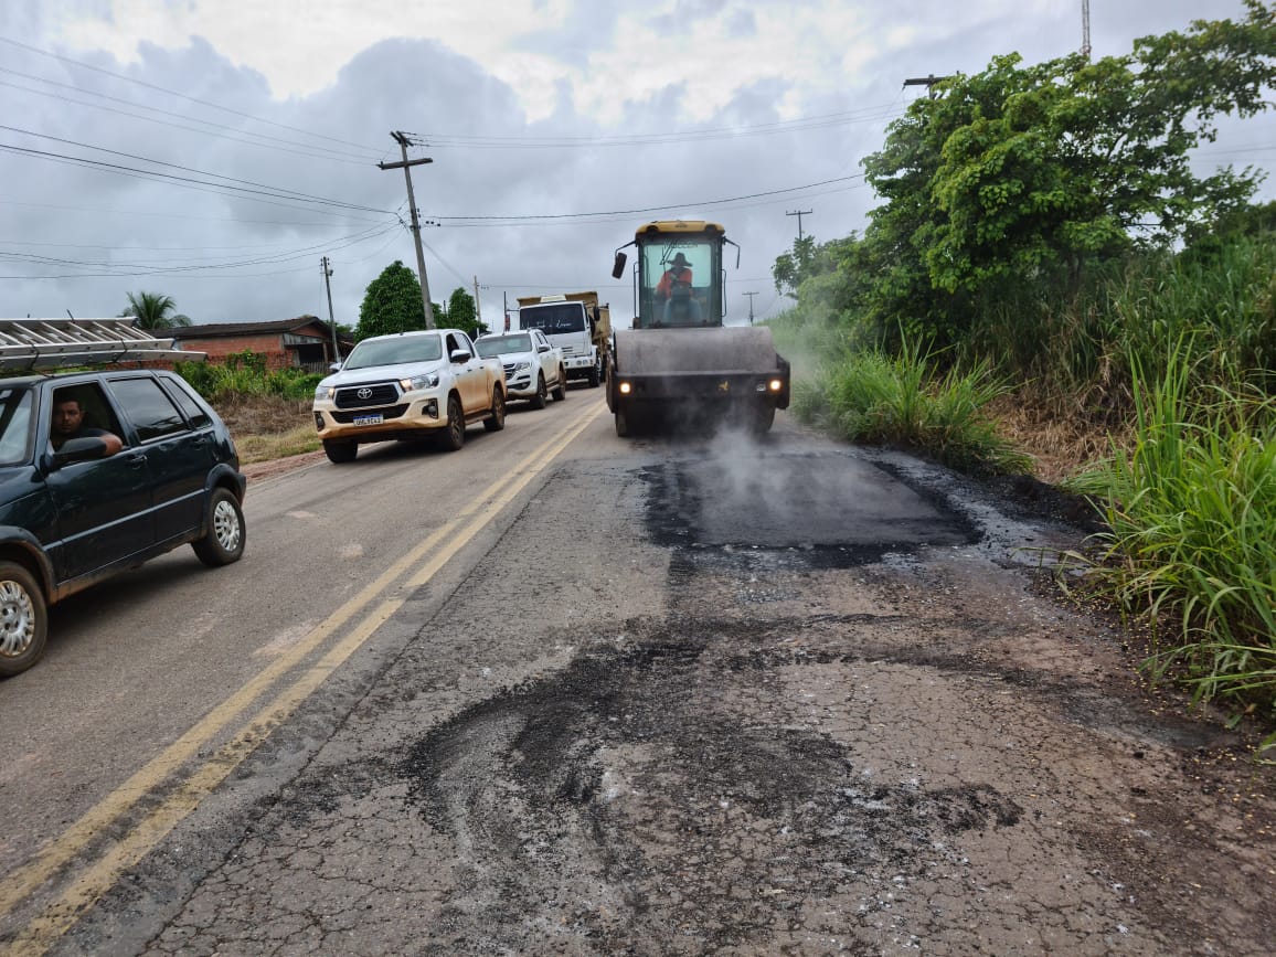
M 239 560 L 245 485 L 226 425 L 174 373 L 0 379 L 0 676 L 40 660 L 69 595 L 180 545 Z

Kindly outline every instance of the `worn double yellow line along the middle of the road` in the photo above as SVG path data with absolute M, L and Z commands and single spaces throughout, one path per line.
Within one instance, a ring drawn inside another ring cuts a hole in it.
M 412 592 L 438 574 L 605 408 L 602 403 L 595 404 L 564 431 L 537 448 L 519 468 L 493 482 L 450 522 L 436 528 L 322 621 L 285 656 L 213 708 L 199 723 L 103 798 L 55 841 L 41 849 L 34 857 L 11 872 L 0 886 L 0 917 L 9 915 L 19 903 L 52 880 L 94 841 L 102 841 L 107 827 L 133 810 L 143 798 L 157 792 L 165 781 L 177 775 L 218 734 L 234 722 L 240 722 L 239 730 L 211 758 L 202 760 L 189 769 L 185 777 L 171 783 L 157 806 L 133 824 L 128 833 L 110 843 L 74 877 L 56 900 L 22 928 L 6 953 L 23 957 L 45 953 L 119 880 L 125 870 L 142 860 L 194 812 L 213 789 L 296 711 L 301 702 L 403 606 Z M 410 572 L 411 575 L 402 582 L 398 591 L 389 595 L 390 587 Z M 347 628 L 348 630 L 345 630 Z M 333 635 L 342 633 L 343 637 L 316 661 L 274 689 L 274 685 L 311 652 L 327 644 Z M 254 702 L 272 689 L 274 689 L 273 697 L 251 713 L 246 713 Z

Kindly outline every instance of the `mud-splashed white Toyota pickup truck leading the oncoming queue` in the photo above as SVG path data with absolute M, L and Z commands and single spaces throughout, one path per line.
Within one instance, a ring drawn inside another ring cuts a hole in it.
M 505 371 L 461 329 L 374 336 L 315 388 L 314 416 L 332 462 L 352 462 L 360 443 L 387 439 L 438 436 L 456 450 L 471 422 L 505 427 Z

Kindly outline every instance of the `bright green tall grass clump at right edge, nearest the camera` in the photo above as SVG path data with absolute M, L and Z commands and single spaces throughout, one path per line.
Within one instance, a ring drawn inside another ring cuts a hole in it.
M 1162 352 L 1155 379 L 1134 364 L 1133 447 L 1074 482 L 1110 528 L 1094 575 L 1160 625 L 1148 667 L 1276 717 L 1276 403 L 1194 384 L 1189 352 Z

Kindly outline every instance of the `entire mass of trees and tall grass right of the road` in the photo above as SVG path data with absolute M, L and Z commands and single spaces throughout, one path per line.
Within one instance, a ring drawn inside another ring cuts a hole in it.
M 1276 15 L 1245 8 L 937 83 L 864 161 L 864 234 L 776 262 L 772 329 L 803 419 L 1086 495 L 1087 595 L 1150 625 L 1152 674 L 1271 730 L 1276 203 L 1189 162 L 1272 105 Z

